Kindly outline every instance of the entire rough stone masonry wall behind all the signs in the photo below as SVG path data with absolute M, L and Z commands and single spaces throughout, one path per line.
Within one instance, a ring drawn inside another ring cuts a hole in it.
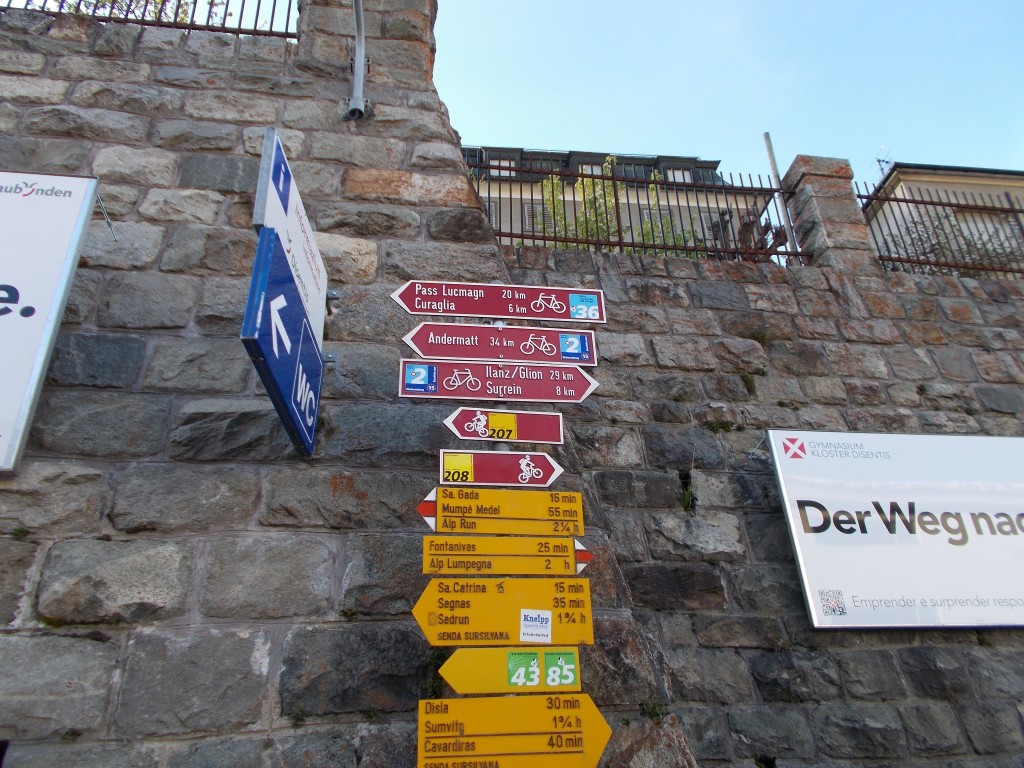
M 436 9 L 368 0 L 346 122 L 350 5 L 304 5 L 298 44 L 0 13 L 0 168 L 98 176 L 117 233 L 89 228 L 0 477 L 5 768 L 415 765 L 417 701 L 451 695 L 411 617 L 416 505 L 457 441 L 451 407 L 396 397 L 412 278 L 605 291 L 600 387 L 553 452 L 596 554 L 602 766 L 1020 766 L 1024 633 L 812 630 L 759 442 L 1024 435 L 1024 287 L 878 271 L 815 159 L 792 178 L 819 266 L 500 249 Z M 238 339 L 266 126 L 340 293 L 308 462 Z

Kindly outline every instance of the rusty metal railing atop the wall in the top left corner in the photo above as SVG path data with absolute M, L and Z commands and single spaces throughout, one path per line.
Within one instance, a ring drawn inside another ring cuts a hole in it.
M 6 0 L 0 8 L 236 35 L 298 38 L 294 0 Z

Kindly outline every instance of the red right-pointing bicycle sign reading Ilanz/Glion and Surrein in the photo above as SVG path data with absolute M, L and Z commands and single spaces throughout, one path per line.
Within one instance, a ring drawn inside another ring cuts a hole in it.
M 401 397 L 517 402 L 582 402 L 597 382 L 577 366 L 473 360 L 402 360 Z

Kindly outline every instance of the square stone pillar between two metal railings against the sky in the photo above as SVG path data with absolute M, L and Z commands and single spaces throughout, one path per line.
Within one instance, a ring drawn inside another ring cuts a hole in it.
M 782 188 L 790 196 L 800 249 L 811 255 L 813 266 L 877 274 L 882 267 L 852 180 L 846 160 L 798 155 L 785 172 Z

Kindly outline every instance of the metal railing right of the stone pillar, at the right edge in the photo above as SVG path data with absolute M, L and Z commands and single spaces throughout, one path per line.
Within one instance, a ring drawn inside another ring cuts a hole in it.
M 855 185 L 882 266 L 963 278 L 1024 278 L 1024 206 L 1010 193 Z

